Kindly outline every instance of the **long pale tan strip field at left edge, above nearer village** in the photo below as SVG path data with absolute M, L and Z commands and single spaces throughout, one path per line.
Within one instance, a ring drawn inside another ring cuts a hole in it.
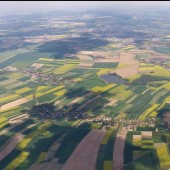
M 24 103 L 27 103 L 29 100 L 26 99 L 26 98 L 21 98 L 21 99 L 18 99 L 18 100 L 15 100 L 13 102 L 10 102 L 10 103 L 7 103 L 3 106 L 1 106 L 0 110 L 6 110 L 6 109 L 10 109 L 12 107 L 16 107 L 16 106 L 19 106 L 21 104 L 24 104 Z

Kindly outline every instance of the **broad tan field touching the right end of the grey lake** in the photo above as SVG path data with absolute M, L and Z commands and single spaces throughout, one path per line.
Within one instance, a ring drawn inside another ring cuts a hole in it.
M 115 73 L 123 78 L 127 78 L 138 74 L 139 65 L 131 65 L 123 68 L 116 69 Z

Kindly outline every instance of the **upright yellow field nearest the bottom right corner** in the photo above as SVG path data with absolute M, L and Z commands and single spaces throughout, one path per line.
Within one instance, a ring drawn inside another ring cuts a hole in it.
M 158 154 L 160 166 L 164 167 L 170 165 L 170 156 L 168 153 L 167 145 L 165 144 L 164 146 L 157 148 L 156 151 Z

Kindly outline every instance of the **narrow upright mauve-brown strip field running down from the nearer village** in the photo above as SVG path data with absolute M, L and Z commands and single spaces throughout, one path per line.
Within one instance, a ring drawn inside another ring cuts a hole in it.
M 116 135 L 116 140 L 113 149 L 113 169 L 122 170 L 124 165 L 124 147 L 126 140 L 126 132 L 119 132 Z

